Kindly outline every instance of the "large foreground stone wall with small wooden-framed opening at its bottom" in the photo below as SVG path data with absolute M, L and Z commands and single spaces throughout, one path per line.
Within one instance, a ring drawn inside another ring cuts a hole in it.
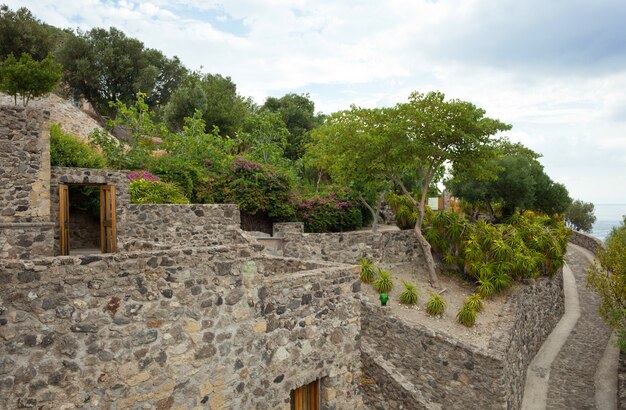
M 362 408 L 352 266 L 248 246 L 0 260 L 4 408 Z

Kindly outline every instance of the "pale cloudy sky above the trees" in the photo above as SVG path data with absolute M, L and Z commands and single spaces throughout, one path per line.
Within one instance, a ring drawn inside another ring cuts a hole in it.
M 626 204 L 624 0 L 2 2 L 116 27 L 260 104 L 308 93 L 329 114 L 441 91 L 511 124 L 574 199 Z

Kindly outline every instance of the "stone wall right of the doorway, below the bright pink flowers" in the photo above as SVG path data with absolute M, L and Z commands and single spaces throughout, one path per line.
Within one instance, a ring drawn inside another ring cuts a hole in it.
M 243 244 L 251 239 L 240 227 L 239 207 L 211 205 L 131 205 L 128 240 L 172 246 Z

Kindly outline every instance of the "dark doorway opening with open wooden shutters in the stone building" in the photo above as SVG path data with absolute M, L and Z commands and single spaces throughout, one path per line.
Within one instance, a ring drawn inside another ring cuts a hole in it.
M 59 185 L 59 225 L 61 255 L 115 252 L 115 187 Z

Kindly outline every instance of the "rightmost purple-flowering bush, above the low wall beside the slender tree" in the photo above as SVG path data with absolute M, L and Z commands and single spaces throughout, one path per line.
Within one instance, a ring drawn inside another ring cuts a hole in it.
M 292 196 L 306 232 L 343 232 L 363 226 L 361 207 L 346 192 Z

